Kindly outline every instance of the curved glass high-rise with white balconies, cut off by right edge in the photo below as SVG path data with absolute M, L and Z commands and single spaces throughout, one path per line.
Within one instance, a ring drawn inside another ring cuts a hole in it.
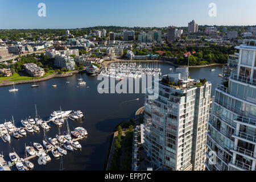
M 205 162 L 210 171 L 255 171 L 256 40 L 243 40 L 235 48 L 237 69 L 228 85 L 218 84 L 213 97 Z

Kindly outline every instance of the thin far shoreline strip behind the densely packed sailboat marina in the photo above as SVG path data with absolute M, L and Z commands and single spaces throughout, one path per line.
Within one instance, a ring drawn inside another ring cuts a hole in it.
M 187 66 L 182 66 L 182 65 L 177 65 L 172 63 L 171 61 L 164 61 L 164 60 L 113 60 L 113 61 L 105 61 L 103 64 L 104 66 L 109 65 L 110 63 L 114 63 L 114 62 L 142 62 L 142 63 L 163 63 L 163 64 L 169 64 L 172 65 L 173 67 L 176 68 L 184 68 Z M 189 68 L 207 68 L 207 67 L 215 67 L 215 66 L 222 66 L 222 65 L 226 65 L 226 63 L 214 63 L 214 64 L 208 64 L 208 65 L 192 65 L 189 66 Z

